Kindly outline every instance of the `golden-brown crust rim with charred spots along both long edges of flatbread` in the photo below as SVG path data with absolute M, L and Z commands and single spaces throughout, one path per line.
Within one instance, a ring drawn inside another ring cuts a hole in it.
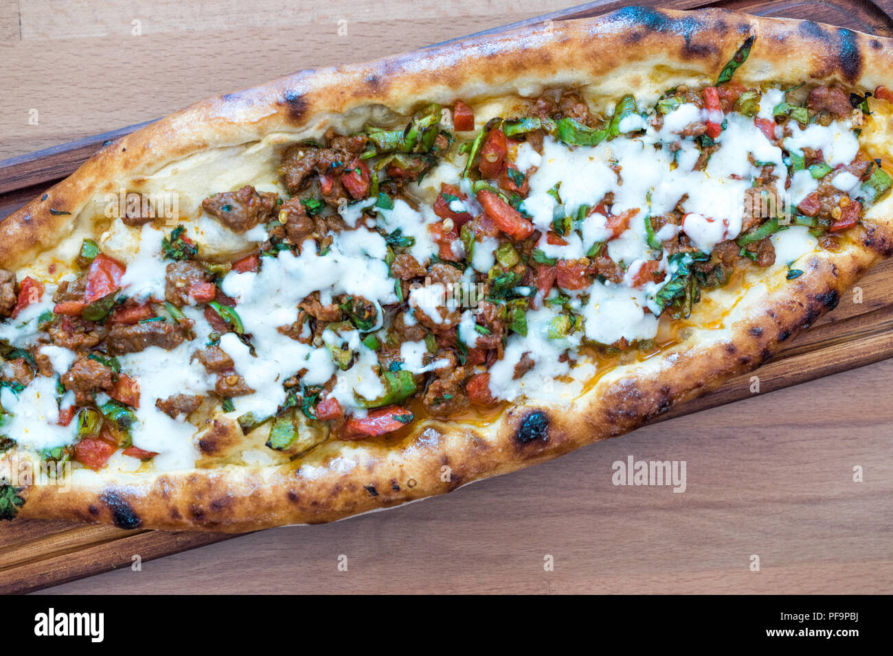
M 83 220 L 81 210 L 96 193 L 205 148 L 244 145 L 274 132 L 297 137 L 327 120 L 343 120 L 338 115 L 349 120 L 369 104 L 405 112 L 419 102 L 530 95 L 543 87 L 586 86 L 605 97 L 630 88 L 657 93 L 684 79 L 715 79 L 751 34 L 757 39 L 739 71 L 751 84 L 814 79 L 873 88 L 893 66 L 893 42 L 846 29 L 718 10 L 627 8 L 380 62 L 303 71 L 195 104 L 106 145 L 71 178 L 0 224 L 0 265 L 14 268 L 58 243 Z M 237 532 L 340 519 L 547 461 L 637 428 L 766 361 L 893 253 L 891 209 L 889 199 L 874 206 L 867 227 L 839 253 L 817 252 L 801 261 L 801 277 L 784 281 L 777 272 L 751 287 L 725 328 L 694 329 L 660 357 L 610 371 L 571 408 L 517 405 L 497 424 L 480 427 L 426 420 L 399 443 L 333 442 L 278 468 L 196 469 L 64 493 L 32 486 L 21 493 L 21 514 Z

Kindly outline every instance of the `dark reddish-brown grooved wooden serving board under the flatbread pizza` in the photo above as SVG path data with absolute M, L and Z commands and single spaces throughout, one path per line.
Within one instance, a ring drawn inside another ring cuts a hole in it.
M 593 2 L 482 32 L 537 22 L 595 16 L 622 2 Z M 722 6 L 756 15 L 810 19 L 893 37 L 893 0 L 838 0 L 816 4 L 786 0 L 705 3 L 640 2 L 674 9 Z M 171 110 L 176 108 L 171 108 Z M 69 175 L 104 142 L 142 127 L 130 126 L 0 162 L 0 219 Z M 861 295 L 858 290 L 861 289 Z M 893 261 L 880 264 L 844 295 L 837 310 L 792 341 L 759 370 L 760 392 L 794 386 L 839 371 L 893 357 Z M 674 408 L 659 421 L 747 398 L 750 375 L 733 378 L 720 390 Z M 0 526 L 0 593 L 23 593 L 93 574 L 129 567 L 231 536 L 212 533 L 124 531 L 65 521 L 17 519 Z

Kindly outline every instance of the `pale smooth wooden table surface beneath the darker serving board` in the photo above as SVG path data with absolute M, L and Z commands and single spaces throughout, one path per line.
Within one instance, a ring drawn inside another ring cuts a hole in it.
M 568 4 L 6 2 L 0 159 Z M 45 592 L 889 593 L 891 389 L 893 361 L 882 361 L 404 508 L 241 536 Z M 613 486 L 613 462 L 629 456 L 685 461 L 686 491 Z

